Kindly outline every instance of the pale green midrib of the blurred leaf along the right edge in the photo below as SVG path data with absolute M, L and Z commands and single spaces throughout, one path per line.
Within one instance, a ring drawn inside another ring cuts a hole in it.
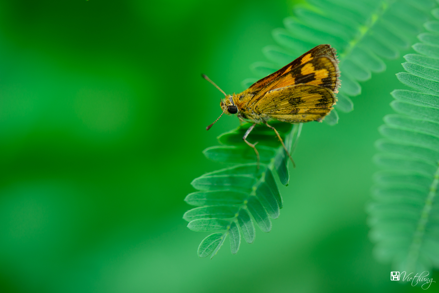
M 439 165 L 439 162 L 438 162 Z M 425 226 L 428 223 L 428 216 L 432 210 L 433 199 L 436 196 L 437 187 L 439 184 L 439 167 L 435 172 L 434 179 L 430 185 L 430 192 L 428 192 L 427 199 L 425 199 L 425 205 L 421 212 L 421 218 L 417 223 L 416 231 L 413 235 L 413 240 L 410 245 L 409 253 L 407 255 L 407 271 L 414 271 L 416 269 L 416 263 L 419 258 L 419 251 L 421 250 L 422 238 L 425 234 Z

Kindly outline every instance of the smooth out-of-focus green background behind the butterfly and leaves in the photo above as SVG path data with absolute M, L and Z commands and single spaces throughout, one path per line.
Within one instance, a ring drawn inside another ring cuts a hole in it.
M 372 257 L 365 204 L 395 73 L 304 125 L 269 234 L 197 257 L 182 219 L 219 115 L 291 1 L 0 2 L 0 291 L 412 292 Z M 436 273 L 433 278 L 439 277 Z M 433 284 L 429 290 L 435 290 Z

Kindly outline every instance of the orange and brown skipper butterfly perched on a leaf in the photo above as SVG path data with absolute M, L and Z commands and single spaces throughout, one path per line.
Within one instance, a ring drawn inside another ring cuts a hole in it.
M 291 159 L 284 141 L 277 130 L 268 124 L 278 120 L 288 123 L 321 122 L 337 102 L 340 72 L 335 48 L 323 44 L 309 50 L 288 65 L 253 83 L 239 94 L 226 94 L 206 75 L 203 78 L 212 83 L 225 96 L 221 99 L 223 113 L 236 114 L 243 121 L 253 123 L 242 139 L 255 150 L 259 166 L 259 152 L 254 144 L 247 141 L 247 136 L 256 124 L 265 124 L 274 130 L 277 138 Z M 216 121 L 206 127 L 210 127 Z

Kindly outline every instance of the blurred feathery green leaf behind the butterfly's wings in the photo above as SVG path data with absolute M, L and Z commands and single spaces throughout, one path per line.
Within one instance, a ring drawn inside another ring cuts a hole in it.
M 434 0 L 307 0 L 306 5 L 294 7 L 293 17 L 284 19 L 284 28 L 273 30 L 273 39 L 279 46 L 270 45 L 262 50 L 271 63 L 253 63 L 250 69 L 257 78 L 246 79 L 242 85 L 247 88 L 316 45 L 329 43 L 339 54 L 342 80 L 335 109 L 350 112 L 350 97 L 361 93 L 358 82 L 369 80 L 371 72 L 384 71 L 383 58 L 398 58 L 399 52 L 421 33 L 422 25 L 431 32 L 439 31 L 439 22 L 427 22 L 435 6 Z M 439 51 L 432 42 L 438 36 L 430 33 L 420 37 L 425 40 L 416 45 L 417 50 L 436 58 Z M 438 60 L 434 62 L 438 64 Z M 333 110 L 324 121 L 336 124 L 337 112 Z

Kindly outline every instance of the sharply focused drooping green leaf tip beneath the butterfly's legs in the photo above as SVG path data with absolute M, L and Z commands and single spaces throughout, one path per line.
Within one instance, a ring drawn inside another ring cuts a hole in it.
M 285 145 L 294 151 L 302 124 L 271 123 L 284 139 Z M 288 185 L 288 156 L 273 130 L 257 125 L 247 137 L 258 141 L 261 163 L 258 168 L 252 148 L 243 145 L 242 137 L 251 124 L 245 123 L 234 130 L 219 135 L 222 145 L 206 148 L 203 153 L 213 161 L 237 165 L 206 173 L 192 181 L 198 192 L 186 196 L 185 201 L 198 206 L 184 213 L 187 228 L 192 231 L 221 231 L 207 236 L 198 247 L 199 257 L 211 258 L 230 236 L 230 250 L 237 253 L 241 234 L 245 241 L 255 240 L 255 224 L 263 232 L 270 232 L 271 219 L 277 219 L 283 207 L 273 172 L 281 183 Z

